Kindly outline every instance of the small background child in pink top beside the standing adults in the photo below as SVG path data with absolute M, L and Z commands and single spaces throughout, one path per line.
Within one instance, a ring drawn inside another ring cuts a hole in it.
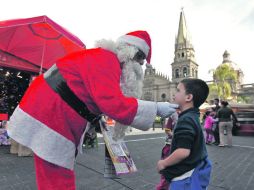
M 206 132 L 206 138 L 205 138 L 206 144 L 211 144 L 213 141 L 212 127 L 213 127 L 214 122 L 215 122 L 215 120 L 212 117 L 212 112 L 206 111 L 205 123 L 204 123 L 204 128 L 205 128 L 205 132 Z

